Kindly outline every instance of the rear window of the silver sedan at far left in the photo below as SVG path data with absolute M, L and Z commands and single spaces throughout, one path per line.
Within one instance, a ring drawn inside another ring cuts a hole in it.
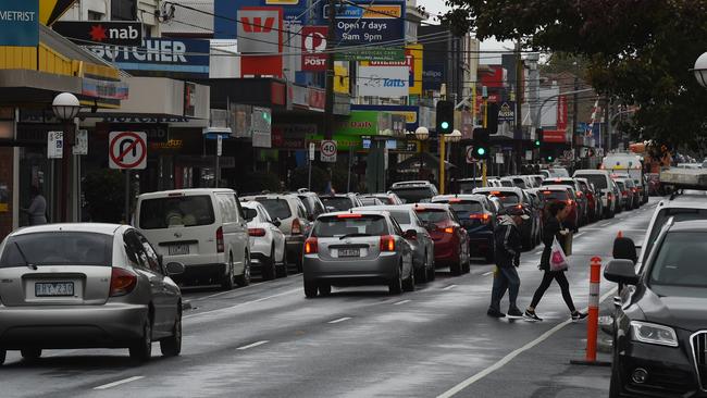
M 9 237 L 0 269 L 30 265 L 111 266 L 113 236 L 88 232 L 47 232 Z

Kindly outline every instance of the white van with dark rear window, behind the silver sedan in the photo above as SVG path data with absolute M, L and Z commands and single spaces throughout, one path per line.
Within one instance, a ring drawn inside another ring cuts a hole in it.
M 248 226 L 233 189 L 177 189 L 137 198 L 135 227 L 164 257 L 185 265 L 177 282 L 250 283 Z

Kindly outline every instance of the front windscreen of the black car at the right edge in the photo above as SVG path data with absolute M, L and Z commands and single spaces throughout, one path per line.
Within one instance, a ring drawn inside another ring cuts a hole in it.
M 671 232 L 666 235 L 650 266 L 648 284 L 707 287 L 707 233 Z

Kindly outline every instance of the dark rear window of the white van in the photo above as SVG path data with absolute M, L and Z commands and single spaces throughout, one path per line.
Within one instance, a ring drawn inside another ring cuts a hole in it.
M 140 228 L 199 226 L 214 223 L 213 206 L 208 195 L 145 199 L 140 202 Z

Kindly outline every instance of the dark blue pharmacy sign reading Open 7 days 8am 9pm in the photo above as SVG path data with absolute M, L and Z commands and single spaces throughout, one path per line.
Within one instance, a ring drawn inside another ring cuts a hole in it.
M 337 8 L 336 46 L 361 46 L 390 43 L 404 45 L 405 2 L 354 0 Z M 322 23 L 328 15 L 328 4 L 322 7 Z

